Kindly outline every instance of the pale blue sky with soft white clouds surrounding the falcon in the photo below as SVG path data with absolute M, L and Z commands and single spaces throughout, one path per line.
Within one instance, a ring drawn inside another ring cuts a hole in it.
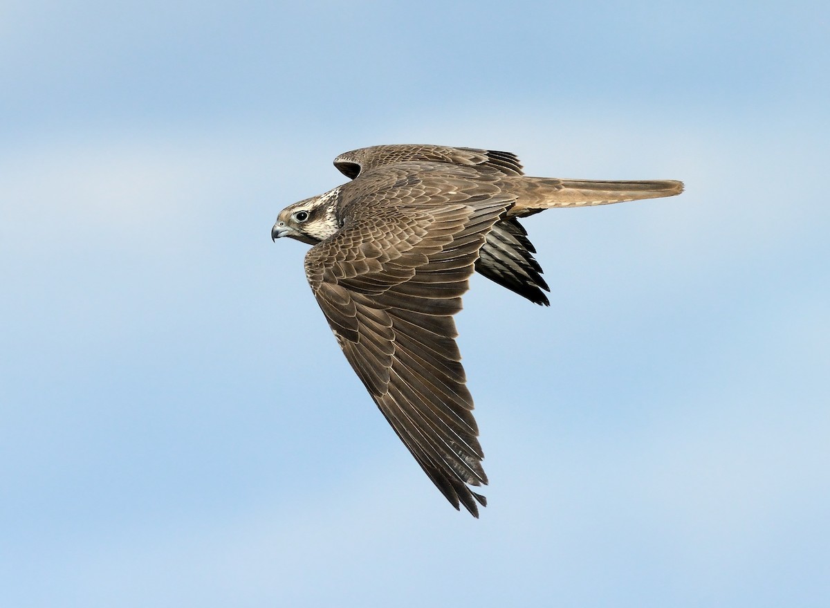
M 0 3 L 2 606 L 828 606 L 827 2 Z M 682 179 L 457 317 L 455 512 L 271 243 L 364 145 Z

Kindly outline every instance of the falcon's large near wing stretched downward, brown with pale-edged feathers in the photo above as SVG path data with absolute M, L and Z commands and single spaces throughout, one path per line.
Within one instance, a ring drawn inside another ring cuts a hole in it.
M 472 182 L 439 194 L 423 184 L 375 191 L 305 257 L 317 302 L 378 408 L 447 500 L 476 517 L 486 498 L 468 484 L 487 477 L 452 315 L 486 232 L 512 202 Z

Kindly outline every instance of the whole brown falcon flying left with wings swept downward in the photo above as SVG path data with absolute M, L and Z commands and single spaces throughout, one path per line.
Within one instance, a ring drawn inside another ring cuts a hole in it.
M 519 218 L 680 194 L 674 180 L 525 176 L 515 154 L 377 145 L 340 154 L 351 179 L 284 208 L 271 238 L 314 247 L 305 276 L 346 359 L 447 500 L 478 517 L 484 454 L 453 315 L 473 271 L 549 305 Z

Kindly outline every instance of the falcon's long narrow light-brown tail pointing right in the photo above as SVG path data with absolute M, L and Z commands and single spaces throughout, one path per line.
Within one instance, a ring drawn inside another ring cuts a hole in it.
M 683 191 L 674 179 L 644 181 L 594 181 L 515 177 L 502 181 L 505 190 L 516 195 L 510 215 L 525 216 L 554 207 L 590 207 L 628 200 L 659 199 Z

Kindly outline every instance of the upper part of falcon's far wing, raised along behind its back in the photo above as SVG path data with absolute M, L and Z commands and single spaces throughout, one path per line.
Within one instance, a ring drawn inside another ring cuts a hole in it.
M 354 179 L 375 167 L 410 161 L 487 167 L 503 175 L 522 174 L 519 159 L 510 152 L 452 148 L 446 145 L 374 145 L 340 154 L 334 159 L 334 166 L 349 179 Z

